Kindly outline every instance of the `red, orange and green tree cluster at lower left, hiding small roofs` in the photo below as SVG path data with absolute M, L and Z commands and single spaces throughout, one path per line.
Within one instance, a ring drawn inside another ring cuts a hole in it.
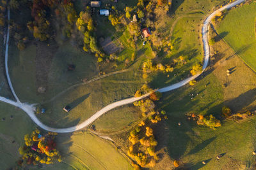
M 56 142 L 54 138 L 57 134 L 48 132 L 44 136 L 36 129 L 31 134 L 24 136 L 25 145 L 20 146 L 19 153 L 22 155 L 22 161 L 19 161 L 19 166 L 22 162 L 26 164 L 53 164 L 54 160 L 61 162 L 61 155 L 56 150 Z

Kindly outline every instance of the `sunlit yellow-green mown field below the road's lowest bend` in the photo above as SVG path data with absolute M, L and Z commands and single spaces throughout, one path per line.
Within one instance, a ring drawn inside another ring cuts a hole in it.
M 61 152 L 65 152 L 63 162 L 76 169 L 132 169 L 114 146 L 88 132 L 59 134 L 57 140 L 62 143 L 58 146 Z

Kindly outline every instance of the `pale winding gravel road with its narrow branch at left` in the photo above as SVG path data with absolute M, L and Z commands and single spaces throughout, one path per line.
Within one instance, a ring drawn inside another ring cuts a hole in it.
M 208 33 L 208 29 L 209 29 L 209 24 L 211 23 L 212 18 L 214 18 L 214 16 L 219 11 L 227 10 L 229 8 L 232 8 L 233 6 L 236 6 L 237 4 L 243 3 L 244 1 L 246 1 L 246 0 L 237 0 L 234 3 L 227 4 L 226 6 L 223 6 L 222 8 L 214 11 L 213 13 L 211 13 L 211 15 L 209 15 L 209 17 L 206 18 L 206 20 L 204 22 L 204 25 L 202 27 L 202 38 L 203 38 L 203 43 L 204 43 L 204 66 L 203 66 L 202 73 L 207 68 L 208 63 L 209 63 L 209 59 L 210 59 L 210 47 L 209 47 L 209 43 L 208 43 L 208 34 L 207 33 Z M 8 21 L 10 21 L 10 10 L 8 10 Z M 15 94 L 15 91 L 14 91 L 13 86 L 12 86 L 12 82 L 10 80 L 10 75 L 8 73 L 9 29 L 10 29 L 10 24 L 8 24 L 8 32 L 7 32 L 7 39 L 6 39 L 5 67 L 6 67 L 6 76 L 7 76 L 7 80 L 8 80 L 10 89 L 12 90 L 12 94 L 15 97 L 15 99 L 17 100 L 17 102 L 12 101 L 10 99 L 6 99 L 4 97 L 0 97 L 0 101 L 3 101 L 4 103 L 8 103 L 8 104 L 11 104 L 11 105 L 16 106 L 16 107 L 19 107 L 20 109 L 22 109 L 23 111 L 25 111 L 28 114 L 28 116 L 33 120 L 33 122 L 35 122 L 36 125 L 38 125 L 42 129 L 44 129 L 45 131 L 58 132 L 58 133 L 67 133 L 67 132 L 74 132 L 74 131 L 81 130 L 84 127 L 92 124 L 92 122 L 94 122 L 97 118 L 99 118 L 101 115 L 108 112 L 109 110 L 113 110 L 114 108 L 117 108 L 119 106 L 123 106 L 125 104 L 130 104 L 130 103 L 133 103 L 134 101 L 138 101 L 140 99 L 143 99 L 143 98 L 149 96 L 149 94 L 145 94 L 141 97 L 131 97 L 129 99 L 124 99 L 122 101 L 117 101 L 115 103 L 111 103 L 108 106 L 105 106 L 104 108 L 102 108 L 100 111 L 97 111 L 97 113 L 95 113 L 94 115 L 92 115 L 92 117 L 85 120 L 82 124 L 76 125 L 74 127 L 68 127 L 68 128 L 62 128 L 62 129 L 56 129 L 56 128 L 53 128 L 53 127 L 49 127 L 49 126 L 43 124 L 42 122 L 40 122 L 40 120 L 38 120 L 38 118 L 36 117 L 36 115 L 34 113 L 35 107 L 33 106 L 33 104 L 29 105 L 29 104 L 26 104 L 26 103 L 20 103 L 19 98 Z M 202 73 L 200 73 L 200 74 L 202 74 Z M 164 88 L 159 89 L 157 91 L 158 92 L 169 92 L 170 90 L 178 89 L 179 87 L 182 87 L 182 86 L 186 85 L 187 83 L 189 83 L 189 81 L 194 80 L 196 77 L 200 76 L 200 74 L 196 74 L 195 76 L 191 76 L 189 78 L 186 78 L 185 80 L 182 80 L 179 83 L 175 83 L 173 85 L 170 85 L 168 87 L 164 87 Z

